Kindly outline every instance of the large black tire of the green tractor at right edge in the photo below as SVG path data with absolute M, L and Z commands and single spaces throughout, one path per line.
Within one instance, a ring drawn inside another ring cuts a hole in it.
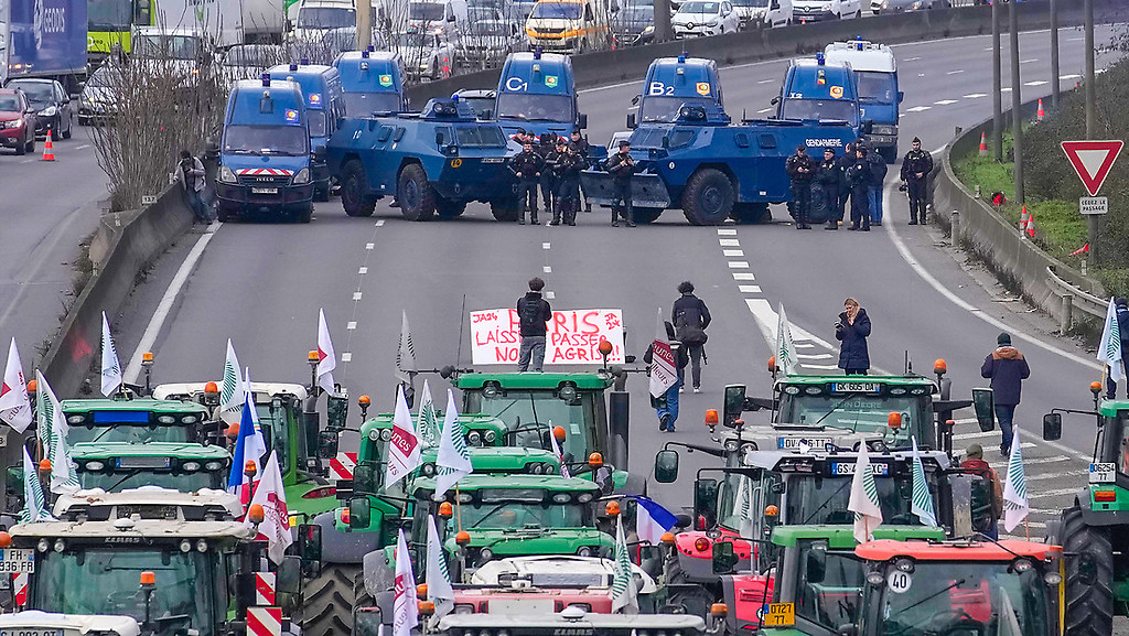
M 1062 511 L 1058 531 L 1066 559 L 1066 636 L 1113 634 L 1113 544 L 1110 529 L 1086 525 L 1082 509 Z

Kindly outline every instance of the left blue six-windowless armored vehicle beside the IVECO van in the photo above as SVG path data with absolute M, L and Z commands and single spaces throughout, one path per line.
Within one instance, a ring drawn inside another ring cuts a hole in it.
M 470 104 L 432 99 L 421 113 L 347 117 L 330 139 L 326 163 L 351 217 L 373 214 L 394 195 L 408 220 L 454 218 L 469 201 L 490 203 L 498 220 L 517 220 L 517 181 L 509 157 L 520 149 Z

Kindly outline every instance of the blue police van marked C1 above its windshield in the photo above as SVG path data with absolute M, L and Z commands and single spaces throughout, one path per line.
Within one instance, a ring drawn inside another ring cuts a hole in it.
M 567 136 L 587 128 L 572 77 L 572 60 L 558 53 L 510 53 L 498 80 L 495 117 L 506 134 L 524 128 L 533 134 Z

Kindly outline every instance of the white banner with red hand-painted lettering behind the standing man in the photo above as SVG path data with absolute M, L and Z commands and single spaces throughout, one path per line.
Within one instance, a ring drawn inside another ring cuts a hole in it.
M 516 365 L 520 345 L 517 310 L 471 312 L 471 354 L 474 365 Z M 623 364 L 622 310 L 553 312 L 545 333 L 546 365 L 603 364 L 599 343 L 612 343 L 609 364 Z

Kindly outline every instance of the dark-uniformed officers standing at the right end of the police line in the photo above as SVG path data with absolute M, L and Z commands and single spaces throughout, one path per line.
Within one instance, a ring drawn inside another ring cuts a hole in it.
M 785 171 L 791 180 L 793 202 L 788 211 L 797 229 L 812 229 L 812 221 L 825 221 L 825 229 L 839 229 L 850 203 L 847 229 L 869 232 L 882 225 L 882 183 L 886 177 L 886 160 L 866 146 L 866 141 L 848 143 L 842 155 L 833 147 L 823 149 L 823 158 L 807 155 L 799 146 L 788 157 Z M 902 160 L 900 190 L 909 194 L 910 225 L 926 223 L 926 182 L 933 172 L 933 156 L 913 138 L 913 149 Z

